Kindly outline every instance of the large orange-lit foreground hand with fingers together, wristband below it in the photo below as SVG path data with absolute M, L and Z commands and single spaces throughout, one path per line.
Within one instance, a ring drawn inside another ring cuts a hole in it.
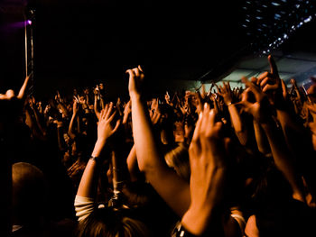
M 216 122 L 214 110 L 204 106 L 192 137 L 189 154 L 191 164 L 191 206 L 181 223 L 192 234 L 200 236 L 214 220 L 225 189 L 227 174 L 226 141 L 222 123 Z M 211 218 L 212 216 L 212 218 Z

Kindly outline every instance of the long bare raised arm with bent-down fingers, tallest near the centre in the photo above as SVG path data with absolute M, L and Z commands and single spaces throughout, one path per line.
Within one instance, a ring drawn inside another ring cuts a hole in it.
M 132 102 L 133 135 L 138 167 L 146 179 L 173 211 L 182 216 L 190 205 L 189 185 L 169 169 L 153 136 L 152 123 L 142 98 L 144 73 L 142 68 L 126 71 L 129 74 L 129 96 Z

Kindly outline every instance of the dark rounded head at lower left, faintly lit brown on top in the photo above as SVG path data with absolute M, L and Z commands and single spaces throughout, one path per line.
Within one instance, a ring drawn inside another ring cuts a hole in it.
M 44 216 L 47 184 L 41 169 L 30 163 L 12 166 L 13 218 L 16 224 L 37 223 Z

